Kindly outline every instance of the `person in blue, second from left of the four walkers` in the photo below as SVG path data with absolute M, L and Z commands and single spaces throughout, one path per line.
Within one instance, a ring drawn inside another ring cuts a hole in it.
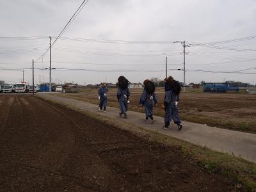
M 119 115 L 122 116 L 124 114 L 124 118 L 127 118 L 127 110 L 128 110 L 128 103 L 129 103 L 129 97 L 130 97 L 130 91 L 128 86 L 129 86 L 129 81 L 124 76 L 118 77 L 118 89 L 117 89 L 116 97 L 120 106 Z

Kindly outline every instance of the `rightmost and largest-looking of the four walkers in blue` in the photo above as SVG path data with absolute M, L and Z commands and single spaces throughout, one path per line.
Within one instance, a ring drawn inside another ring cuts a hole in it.
M 172 76 L 165 79 L 165 96 L 164 96 L 164 129 L 168 129 L 170 122 L 173 122 L 178 126 L 178 130 L 182 129 L 182 124 L 180 122 L 178 102 L 180 94 L 180 84 L 175 81 Z

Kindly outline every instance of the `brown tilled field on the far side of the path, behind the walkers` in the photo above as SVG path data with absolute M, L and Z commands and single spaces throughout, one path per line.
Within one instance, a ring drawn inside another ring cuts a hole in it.
M 129 110 L 143 113 L 138 108 L 142 90 L 131 89 Z M 164 116 L 161 103 L 164 100 L 164 91 L 157 89 L 159 105 L 154 108 L 154 114 Z M 97 89 L 84 93 L 64 93 L 63 97 L 83 100 L 97 104 Z M 118 108 L 116 89 L 108 93 L 108 105 Z M 232 93 L 180 93 L 179 112 L 182 120 L 207 124 L 213 127 L 232 129 L 243 132 L 256 132 L 256 95 Z

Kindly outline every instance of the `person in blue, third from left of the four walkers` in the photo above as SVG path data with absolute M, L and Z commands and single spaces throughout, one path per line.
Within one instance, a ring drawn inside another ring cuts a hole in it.
M 155 84 L 146 79 L 144 82 L 144 90 L 140 97 L 140 106 L 145 108 L 146 118 L 145 122 L 148 121 L 148 118 L 150 118 L 151 122 L 150 124 L 154 123 L 154 117 L 153 117 L 153 108 L 154 105 L 157 103 L 157 97 L 156 97 L 156 86 Z

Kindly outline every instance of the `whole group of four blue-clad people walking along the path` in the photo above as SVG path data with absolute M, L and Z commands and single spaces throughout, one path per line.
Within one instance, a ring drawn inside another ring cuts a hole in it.
M 129 104 L 129 81 L 124 77 L 118 77 L 118 89 L 116 93 L 116 101 L 119 102 L 120 113 L 119 116 L 124 115 L 124 118 L 127 118 L 127 110 Z M 179 118 L 179 112 L 177 104 L 179 102 L 179 94 L 180 94 L 180 84 L 178 81 L 175 81 L 172 76 L 164 79 L 164 129 L 168 129 L 170 127 L 170 122 L 173 122 L 177 125 L 178 130 L 182 129 L 182 124 Z M 148 118 L 150 124 L 154 124 L 153 117 L 153 108 L 157 105 L 157 95 L 156 95 L 156 86 L 155 84 L 146 79 L 144 82 L 144 90 L 140 97 L 140 107 L 145 108 L 146 118 L 145 122 L 148 122 Z M 99 88 L 99 110 L 106 112 L 107 108 L 107 92 L 108 88 L 106 83 L 103 83 Z

